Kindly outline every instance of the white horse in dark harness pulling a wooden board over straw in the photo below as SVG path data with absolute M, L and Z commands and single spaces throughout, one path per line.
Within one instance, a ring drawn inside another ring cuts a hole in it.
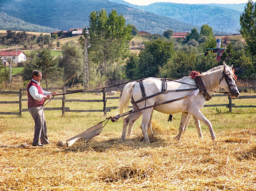
M 204 72 L 201 74 L 202 82 L 204 83 L 208 94 L 212 94 L 213 90 L 219 90 L 223 88 L 225 91 L 229 92 L 231 97 L 238 97 L 239 91 L 235 84 L 235 76 L 232 71 L 232 66 L 227 66 L 225 62 L 223 62 L 223 66 L 217 66 Z M 191 85 L 190 85 L 191 84 Z M 158 92 L 161 92 L 162 82 L 160 78 L 145 78 L 143 79 L 143 85 L 145 89 L 146 97 L 150 95 L 154 95 Z M 183 77 L 178 80 L 170 80 L 167 81 L 167 90 L 179 90 L 179 89 L 191 89 L 196 85 L 195 80 L 189 77 Z M 141 88 L 139 82 L 130 82 L 126 84 L 120 94 L 119 97 L 119 114 L 122 115 L 123 111 L 129 105 L 129 101 L 136 102 L 142 98 Z M 178 98 L 183 98 L 177 101 L 173 101 L 170 103 L 166 103 L 163 105 L 159 105 L 160 103 L 166 102 L 168 100 L 174 100 Z M 149 137 L 147 134 L 147 130 L 151 129 L 151 119 L 152 113 L 155 109 L 158 112 L 173 114 L 182 112 L 182 116 L 180 119 L 180 127 L 179 133 L 176 136 L 179 141 L 182 133 L 187 129 L 190 117 L 193 116 L 196 124 L 196 130 L 200 138 L 202 138 L 200 121 L 204 122 L 211 134 L 212 140 L 215 140 L 215 134 L 212 129 L 211 122 L 201 113 L 200 109 L 205 104 L 205 97 L 199 92 L 199 89 L 196 90 L 188 90 L 188 91 L 177 91 L 177 92 L 167 92 L 164 94 L 159 94 L 154 97 L 150 97 L 144 101 L 141 101 L 136 104 L 132 104 L 133 111 L 138 109 L 142 109 L 138 112 L 133 112 L 128 115 L 128 117 L 123 118 L 123 132 L 122 132 L 122 140 L 126 139 L 126 130 L 128 128 L 128 135 L 131 135 L 132 127 L 139 119 L 141 115 L 143 115 L 142 122 L 140 128 L 142 130 L 144 139 L 146 142 L 149 142 Z M 143 109 L 148 106 L 155 107 Z M 151 129 L 152 132 L 152 129 Z M 153 132 L 152 132 L 153 133 Z

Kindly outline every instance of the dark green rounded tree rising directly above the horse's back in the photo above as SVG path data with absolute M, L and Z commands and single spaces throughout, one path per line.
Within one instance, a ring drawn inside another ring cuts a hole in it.
M 157 77 L 159 68 L 173 56 L 173 49 L 173 42 L 165 42 L 160 38 L 145 42 L 145 49 L 139 54 L 136 78 Z

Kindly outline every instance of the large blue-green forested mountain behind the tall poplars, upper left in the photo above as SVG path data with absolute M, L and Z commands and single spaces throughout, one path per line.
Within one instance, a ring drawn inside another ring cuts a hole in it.
M 89 25 L 91 11 L 105 8 L 109 13 L 113 9 L 123 14 L 126 23 L 133 24 L 137 29 L 151 33 L 162 34 L 164 30 L 173 29 L 174 32 L 191 31 L 196 26 L 172 18 L 137 10 L 126 5 L 117 4 L 107 0 L 0 0 L 0 12 L 24 20 L 35 25 L 69 30 L 70 28 L 83 28 Z M 43 31 L 42 31 L 43 32 Z

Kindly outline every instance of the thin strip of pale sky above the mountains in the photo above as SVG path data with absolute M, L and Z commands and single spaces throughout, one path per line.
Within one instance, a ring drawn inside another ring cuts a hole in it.
M 184 3 L 184 4 L 240 4 L 247 3 L 248 0 L 124 0 L 133 5 L 149 5 L 154 2 L 173 2 L 173 3 Z M 255 0 L 254 0 L 255 2 Z

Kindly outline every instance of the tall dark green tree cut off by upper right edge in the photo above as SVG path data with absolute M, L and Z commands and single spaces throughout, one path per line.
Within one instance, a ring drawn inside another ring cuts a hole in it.
M 240 14 L 241 29 L 239 32 L 244 37 L 247 48 L 252 56 L 256 55 L 256 6 L 248 0 L 245 10 Z

